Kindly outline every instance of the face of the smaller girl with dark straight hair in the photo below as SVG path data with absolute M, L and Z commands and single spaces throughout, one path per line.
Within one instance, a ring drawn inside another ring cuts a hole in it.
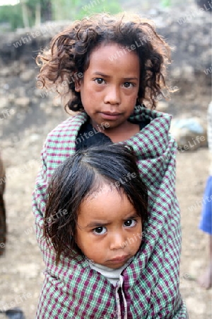
M 76 244 L 93 262 L 122 267 L 138 252 L 141 236 L 141 218 L 124 192 L 105 184 L 81 203 Z

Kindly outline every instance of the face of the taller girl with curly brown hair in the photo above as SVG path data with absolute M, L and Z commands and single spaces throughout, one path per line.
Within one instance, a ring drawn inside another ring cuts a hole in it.
M 122 126 L 134 111 L 139 92 L 140 65 L 136 52 L 115 43 L 101 45 L 90 55 L 90 64 L 76 91 L 93 126 L 111 130 Z

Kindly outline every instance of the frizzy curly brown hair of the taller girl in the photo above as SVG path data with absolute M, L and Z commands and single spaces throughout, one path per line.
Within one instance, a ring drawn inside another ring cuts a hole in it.
M 54 88 L 71 111 L 83 111 L 81 94 L 75 91 L 75 80 L 81 80 L 89 67 L 90 54 L 98 46 L 117 43 L 134 47 L 140 61 L 137 105 L 147 101 L 155 108 L 157 96 L 167 89 L 165 68 L 170 63 L 170 46 L 156 33 L 153 22 L 139 15 L 98 13 L 52 38 L 50 48 L 37 55 L 41 67 L 37 82 L 43 89 Z M 168 89 L 167 89 L 168 91 Z M 164 96 L 165 97 L 165 96 Z

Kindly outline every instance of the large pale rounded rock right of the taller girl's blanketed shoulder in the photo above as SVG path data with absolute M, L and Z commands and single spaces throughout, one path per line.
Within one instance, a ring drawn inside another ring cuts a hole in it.
M 207 145 L 206 125 L 199 118 L 174 118 L 170 133 L 182 151 L 194 151 Z

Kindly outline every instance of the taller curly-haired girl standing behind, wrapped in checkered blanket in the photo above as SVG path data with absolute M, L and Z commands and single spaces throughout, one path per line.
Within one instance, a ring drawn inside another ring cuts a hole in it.
M 99 14 L 76 21 L 56 35 L 50 49 L 42 52 L 37 60 L 42 65 L 38 76 L 42 86 L 57 89 L 66 108 L 77 111 L 49 133 L 33 196 L 37 241 L 47 267 L 44 291 L 48 297 L 45 301 L 45 293 L 42 294 L 40 309 L 45 310 L 38 318 L 114 318 L 108 296 L 111 293 L 114 298 L 115 291 L 105 293 L 102 284 L 98 289 L 96 281 L 93 281 L 93 289 L 86 281 L 86 270 L 74 276 L 77 267 L 72 259 L 65 257 L 66 254 L 61 254 L 60 259 L 59 255 L 55 257 L 42 237 L 47 184 L 54 169 L 76 150 L 123 141 L 134 149 L 149 196 L 148 235 L 141 262 L 136 267 L 133 264 L 129 278 L 124 280 L 124 296 L 129 294 L 124 297 L 127 318 L 187 318 L 179 293 L 181 229 L 175 194 L 177 145 L 169 133 L 171 116 L 153 110 L 157 96 L 164 93 L 164 71 L 170 60 L 170 47 L 150 21 L 143 21 L 139 16 Z M 110 163 L 108 165 L 110 167 Z M 85 180 L 82 176 L 81 183 Z M 138 268 L 141 281 L 137 286 Z M 83 315 L 80 312 L 78 317 L 72 316 L 79 297 L 91 288 L 93 295 L 86 297 Z M 70 289 L 74 292 L 71 304 Z M 50 300 L 51 306 L 48 306 Z M 102 310 L 101 315 L 96 309 L 90 312 L 91 300 L 97 308 L 104 305 L 105 312 Z M 60 316 L 61 309 L 66 315 Z

